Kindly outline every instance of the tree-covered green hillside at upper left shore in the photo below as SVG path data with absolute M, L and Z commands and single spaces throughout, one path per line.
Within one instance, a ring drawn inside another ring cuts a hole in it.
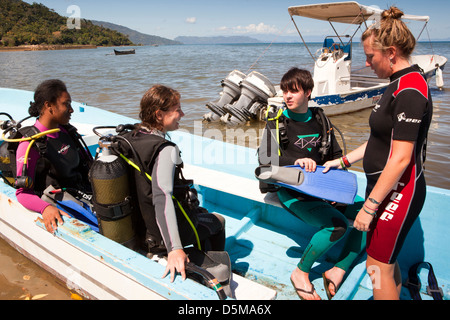
M 81 29 L 69 29 L 67 18 L 38 3 L 0 1 L 0 47 L 20 45 L 132 45 L 127 36 L 89 20 Z

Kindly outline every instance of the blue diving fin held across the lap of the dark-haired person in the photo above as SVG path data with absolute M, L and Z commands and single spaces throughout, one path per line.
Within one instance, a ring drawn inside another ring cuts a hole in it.
M 256 178 L 265 182 L 289 188 L 316 198 L 353 204 L 358 192 L 356 175 L 352 172 L 330 169 L 322 171 L 323 166 L 317 166 L 316 171 L 307 172 L 300 166 L 260 166 L 256 169 Z M 301 178 L 299 178 L 301 176 Z

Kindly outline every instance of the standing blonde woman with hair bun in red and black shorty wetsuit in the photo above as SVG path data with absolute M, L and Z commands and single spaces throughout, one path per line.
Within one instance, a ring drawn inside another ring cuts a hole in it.
M 366 65 L 379 78 L 390 77 L 391 83 L 370 116 L 368 142 L 346 157 L 349 163 L 364 160 L 366 201 L 354 226 L 367 232 L 374 299 L 399 299 L 397 256 L 426 193 L 423 155 L 433 108 L 421 70 L 409 64 L 416 41 L 402 15 L 396 7 L 385 10 L 379 27 L 362 36 Z

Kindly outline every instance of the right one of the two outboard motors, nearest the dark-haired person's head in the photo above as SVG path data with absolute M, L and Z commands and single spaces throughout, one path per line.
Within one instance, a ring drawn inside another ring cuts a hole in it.
M 241 82 L 239 100 L 223 107 L 228 114 L 223 115 L 220 120 L 228 125 L 239 125 L 256 119 L 258 112 L 267 106 L 267 99 L 275 94 L 275 87 L 269 79 L 253 71 Z

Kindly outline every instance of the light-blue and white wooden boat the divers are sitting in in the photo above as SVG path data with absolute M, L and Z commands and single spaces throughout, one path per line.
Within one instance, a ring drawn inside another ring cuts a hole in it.
M 0 88 L 0 112 L 14 119 L 27 116 L 33 93 Z M 92 152 L 98 137 L 92 127 L 135 123 L 136 119 L 74 102 L 72 124 L 85 135 Z M 6 119 L 0 119 L 6 120 Z M 184 175 L 193 178 L 201 205 L 226 219 L 226 250 L 232 269 L 236 299 L 295 299 L 290 282 L 315 228 L 295 218 L 271 194 L 259 191 L 254 170 L 258 166 L 254 149 L 207 139 L 178 130 L 171 133 L 182 152 Z M 364 196 L 365 177 L 355 172 L 358 194 Z M 428 187 L 425 206 L 408 235 L 398 258 L 406 282 L 408 270 L 416 262 L 433 265 L 439 288 L 450 299 L 450 191 Z M 0 236 L 19 252 L 64 280 L 68 286 L 92 299 L 193 299 L 214 300 L 210 288 L 180 277 L 170 283 L 161 279 L 164 266 L 136 253 L 84 223 L 70 219 L 55 235 L 48 233 L 40 215 L 17 202 L 15 190 L 0 183 Z M 338 259 L 341 241 L 313 266 L 310 277 L 317 293 L 326 299 L 321 274 Z M 342 283 L 336 300 L 372 299 L 372 284 L 365 270 L 365 254 L 355 262 Z M 421 270 L 421 296 L 427 295 L 427 274 Z M 403 288 L 402 299 L 411 299 Z M 259 301 L 258 304 L 267 304 Z

